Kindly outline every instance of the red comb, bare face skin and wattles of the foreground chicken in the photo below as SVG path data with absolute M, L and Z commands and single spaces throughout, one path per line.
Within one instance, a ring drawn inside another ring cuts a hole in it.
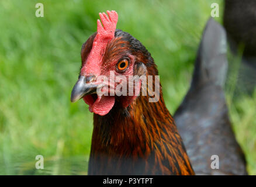
M 80 75 L 95 75 L 96 79 L 99 77 L 99 75 L 105 75 L 110 80 L 113 79 L 110 77 L 110 71 L 113 71 L 115 72 L 115 77 L 117 75 L 124 75 L 128 80 L 128 76 L 133 75 L 135 57 L 132 54 L 129 54 L 129 51 L 126 50 L 125 43 L 123 43 L 122 40 L 115 38 L 116 23 L 118 19 L 117 13 L 115 11 L 107 11 L 107 13 L 109 17 L 105 13 L 99 13 L 103 27 L 101 22 L 97 20 L 97 34 L 92 43 L 91 51 L 89 52 L 85 61 L 82 62 Z M 115 48 L 121 45 L 122 47 L 119 47 L 119 49 L 127 51 L 125 56 L 126 58 L 129 58 L 129 65 L 125 71 L 118 72 L 118 70 L 116 70 L 116 64 L 120 59 L 123 58 L 124 54 L 118 53 Z M 111 57 L 109 57 L 110 51 Z M 93 83 L 102 84 L 102 80 L 97 79 Z M 116 85 L 119 83 L 116 82 L 115 84 L 111 84 L 111 82 L 108 82 L 107 84 L 113 88 L 112 90 L 115 90 Z M 134 89 L 140 89 L 140 84 L 134 85 Z M 108 91 L 108 93 L 109 92 L 111 92 L 111 89 Z M 132 103 L 136 98 L 136 96 L 125 97 L 126 99 L 122 99 L 121 101 L 124 108 L 129 106 L 130 103 Z M 83 99 L 85 103 L 89 105 L 90 112 L 104 116 L 113 108 L 116 101 L 116 96 L 98 95 L 96 97 L 95 95 L 87 95 L 84 96 Z

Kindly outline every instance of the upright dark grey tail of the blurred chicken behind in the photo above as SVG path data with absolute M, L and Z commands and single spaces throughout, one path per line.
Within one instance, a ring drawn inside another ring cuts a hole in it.
M 227 74 L 226 53 L 226 32 L 219 23 L 210 18 L 199 46 L 192 89 L 209 81 L 216 85 L 224 85 Z

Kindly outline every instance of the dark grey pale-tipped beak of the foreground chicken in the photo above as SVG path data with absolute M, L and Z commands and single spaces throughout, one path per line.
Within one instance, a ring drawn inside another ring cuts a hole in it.
M 78 101 L 79 99 L 83 98 L 85 95 L 89 95 L 92 93 L 96 93 L 97 86 L 96 84 L 87 83 L 87 77 L 80 76 L 77 83 L 74 85 L 74 88 L 71 92 L 70 101 L 72 103 Z

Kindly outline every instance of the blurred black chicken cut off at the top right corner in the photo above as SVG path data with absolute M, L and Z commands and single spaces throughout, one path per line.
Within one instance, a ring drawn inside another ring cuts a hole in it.
M 226 0 L 223 24 L 227 31 L 230 48 L 241 65 L 238 72 L 236 95 L 252 93 L 256 85 L 256 1 Z M 241 51 L 240 51 L 241 50 Z M 234 72 L 234 67 L 230 71 Z

